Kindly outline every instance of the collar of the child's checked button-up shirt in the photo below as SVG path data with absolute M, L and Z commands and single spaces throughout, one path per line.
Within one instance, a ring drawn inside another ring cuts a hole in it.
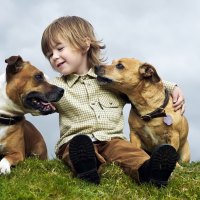
M 64 76 L 69 87 L 72 87 L 79 80 L 80 77 L 96 78 L 97 75 L 94 73 L 94 69 L 90 68 L 90 70 L 85 75 L 70 74 Z

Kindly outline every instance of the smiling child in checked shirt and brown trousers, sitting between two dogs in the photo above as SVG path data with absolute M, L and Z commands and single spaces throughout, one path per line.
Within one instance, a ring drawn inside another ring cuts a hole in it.
M 53 69 L 62 74 L 53 83 L 65 89 L 63 98 L 55 103 L 60 123 L 57 157 L 77 177 L 95 184 L 100 183 L 102 165 L 115 162 L 139 183 L 167 185 L 178 160 L 176 150 L 164 144 L 149 157 L 126 140 L 126 100 L 99 85 L 93 71 L 95 65 L 103 63 L 100 53 L 104 45 L 96 39 L 92 25 L 77 16 L 58 18 L 45 29 L 41 44 Z M 181 90 L 167 85 L 174 91 L 175 109 L 179 109 Z

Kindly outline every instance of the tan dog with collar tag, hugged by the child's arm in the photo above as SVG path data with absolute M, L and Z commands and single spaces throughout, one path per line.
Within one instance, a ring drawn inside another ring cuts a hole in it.
M 159 144 L 171 144 L 181 162 L 190 161 L 188 123 L 174 112 L 171 96 L 155 68 L 132 58 L 95 67 L 101 83 L 126 94 L 132 103 L 129 115 L 130 140 L 148 153 Z

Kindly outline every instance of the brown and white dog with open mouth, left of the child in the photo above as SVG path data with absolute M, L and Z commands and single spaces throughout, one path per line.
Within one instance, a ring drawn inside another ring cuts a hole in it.
M 20 56 L 6 59 L 6 74 L 0 76 L 0 174 L 25 157 L 47 159 L 41 133 L 24 114 L 46 115 L 55 112 L 50 103 L 58 101 L 63 89 L 49 84 L 43 73 Z

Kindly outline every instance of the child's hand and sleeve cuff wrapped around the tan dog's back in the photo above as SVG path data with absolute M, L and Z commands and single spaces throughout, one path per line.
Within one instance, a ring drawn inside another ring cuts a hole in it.
M 185 112 L 185 100 L 182 90 L 176 83 L 169 81 L 163 81 L 163 83 L 172 96 L 174 111 L 181 109 L 181 114 L 183 114 Z

